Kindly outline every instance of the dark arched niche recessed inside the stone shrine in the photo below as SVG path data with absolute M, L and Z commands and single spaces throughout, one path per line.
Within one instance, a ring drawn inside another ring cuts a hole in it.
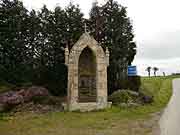
M 96 56 L 86 47 L 78 62 L 78 101 L 96 102 Z

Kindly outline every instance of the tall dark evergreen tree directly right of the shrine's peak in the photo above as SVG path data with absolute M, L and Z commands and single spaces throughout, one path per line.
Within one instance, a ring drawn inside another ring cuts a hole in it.
M 113 0 L 103 6 L 94 3 L 90 13 L 91 34 L 105 49 L 110 51 L 108 88 L 111 92 L 120 88 L 120 82 L 127 78 L 127 66 L 136 54 L 133 27 L 127 17 L 126 8 Z

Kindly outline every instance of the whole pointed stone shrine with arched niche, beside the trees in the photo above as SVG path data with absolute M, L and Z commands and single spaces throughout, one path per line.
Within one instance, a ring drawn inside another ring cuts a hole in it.
M 107 66 L 109 51 L 103 48 L 86 31 L 69 52 L 65 48 L 68 66 L 69 111 L 104 109 L 107 101 Z

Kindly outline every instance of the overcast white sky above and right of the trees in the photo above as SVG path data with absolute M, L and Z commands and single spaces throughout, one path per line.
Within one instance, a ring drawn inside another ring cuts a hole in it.
M 59 5 L 66 7 L 69 2 L 79 4 L 88 18 L 92 2 L 95 0 L 21 0 L 28 9 L 39 10 L 43 4 L 49 9 Z M 99 4 L 107 0 L 97 0 Z M 133 65 L 137 65 L 139 75 L 147 75 L 148 66 L 158 67 L 162 72 L 180 72 L 180 1 L 179 0 L 116 0 L 126 6 L 131 18 L 137 55 Z

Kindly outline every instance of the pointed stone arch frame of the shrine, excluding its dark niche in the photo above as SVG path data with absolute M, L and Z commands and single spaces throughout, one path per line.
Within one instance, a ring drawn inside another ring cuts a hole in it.
M 96 100 L 91 103 L 88 101 L 85 103 L 79 102 L 79 60 L 81 54 L 86 48 L 92 51 L 96 65 Z M 68 65 L 68 109 L 70 111 L 82 109 L 93 110 L 107 107 L 107 66 L 109 65 L 108 50 L 104 53 L 104 50 L 100 45 L 98 45 L 97 41 L 95 41 L 95 39 L 88 33 L 84 33 L 78 42 L 72 47 L 70 53 L 68 48 L 65 49 L 65 63 Z

